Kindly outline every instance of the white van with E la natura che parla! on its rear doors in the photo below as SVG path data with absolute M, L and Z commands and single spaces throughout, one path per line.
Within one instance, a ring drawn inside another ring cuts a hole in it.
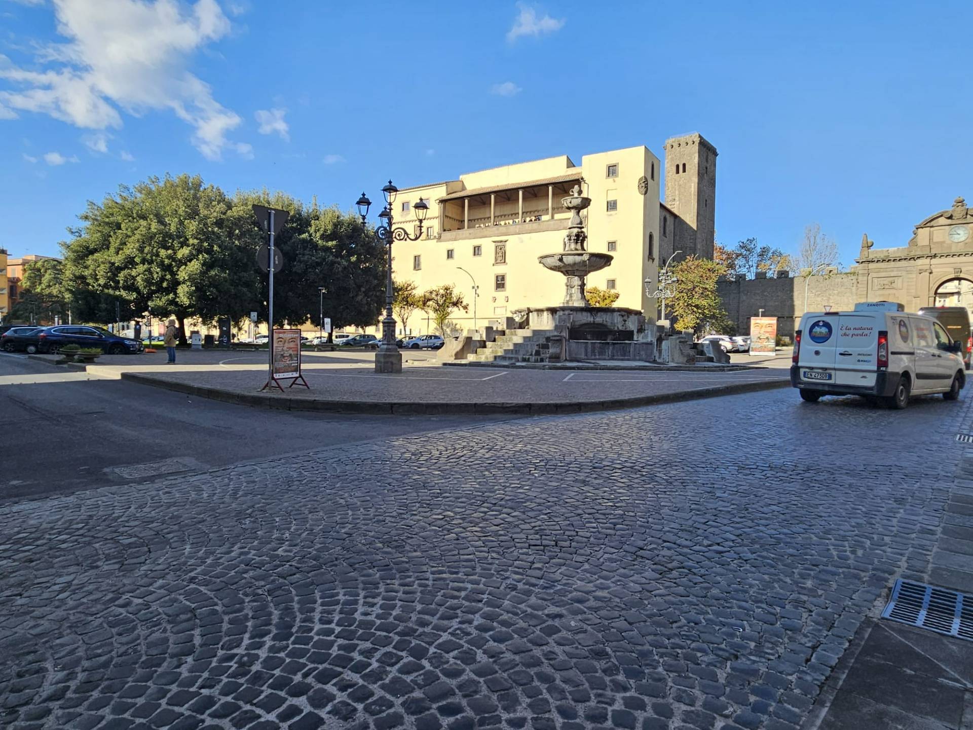
M 928 393 L 955 400 L 966 384 L 962 349 L 935 319 L 894 302 L 807 312 L 794 334 L 791 384 L 811 402 L 822 395 L 863 395 L 905 408 L 910 395 Z

